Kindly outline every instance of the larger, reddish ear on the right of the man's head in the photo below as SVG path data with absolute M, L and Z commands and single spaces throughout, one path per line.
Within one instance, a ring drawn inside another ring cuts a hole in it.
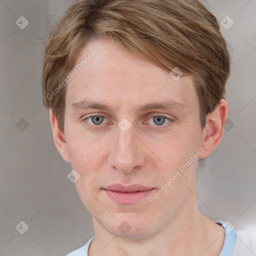
M 205 158 L 213 152 L 220 143 L 224 125 L 227 118 L 227 102 L 221 98 L 213 112 L 206 116 L 206 123 L 201 134 L 201 144 L 199 158 Z

